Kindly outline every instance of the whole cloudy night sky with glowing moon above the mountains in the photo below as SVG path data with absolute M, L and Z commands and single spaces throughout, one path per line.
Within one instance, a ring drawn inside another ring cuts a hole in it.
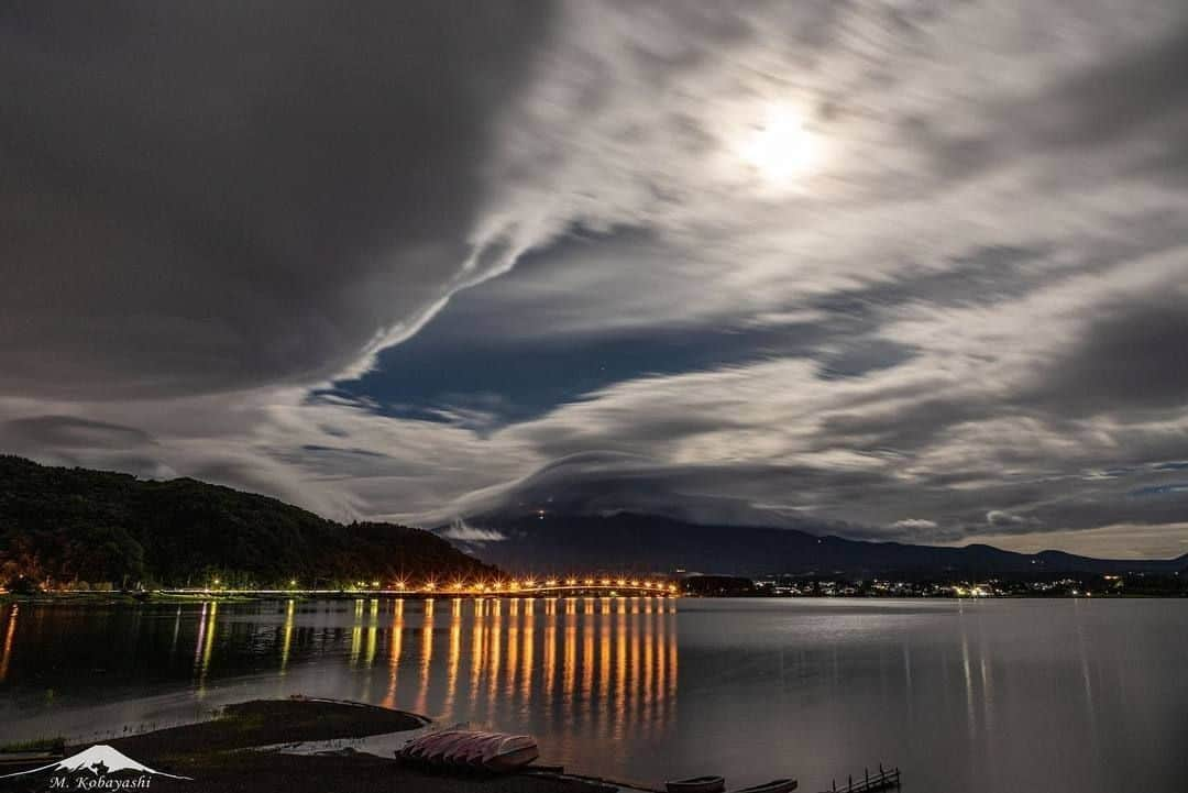
M 2 452 L 1188 552 L 1182 0 L 37 0 L 0 96 Z

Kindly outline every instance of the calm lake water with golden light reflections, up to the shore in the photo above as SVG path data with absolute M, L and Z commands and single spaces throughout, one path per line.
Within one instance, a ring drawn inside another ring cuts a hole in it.
M 291 693 L 531 732 L 612 778 L 1188 789 L 1188 601 L 0 607 L 4 741 Z

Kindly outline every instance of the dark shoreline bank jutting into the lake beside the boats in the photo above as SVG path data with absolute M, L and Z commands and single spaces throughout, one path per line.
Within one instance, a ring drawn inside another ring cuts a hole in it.
M 352 751 L 293 755 L 251 750 L 386 735 L 415 730 L 426 723 L 412 713 L 355 703 L 254 700 L 228 705 L 209 722 L 113 740 L 107 746 L 150 768 L 192 780 L 153 778 L 151 789 L 160 793 L 609 793 L 615 789 L 532 772 L 503 776 L 430 773 L 402 765 L 394 757 Z M 69 747 L 67 755 L 86 748 Z M 48 776 L 0 780 L 0 789 L 49 789 Z

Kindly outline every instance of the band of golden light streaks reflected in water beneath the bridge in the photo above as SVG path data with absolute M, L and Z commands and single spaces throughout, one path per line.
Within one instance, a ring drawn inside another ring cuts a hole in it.
M 246 641 L 257 653 L 271 647 L 293 687 L 309 685 L 312 664 L 339 697 L 623 740 L 663 731 L 674 713 L 675 610 L 652 597 L 284 601 L 264 641 L 230 630 L 236 623 L 209 603 L 192 620 L 194 681 L 203 696 L 211 674 L 242 661 Z

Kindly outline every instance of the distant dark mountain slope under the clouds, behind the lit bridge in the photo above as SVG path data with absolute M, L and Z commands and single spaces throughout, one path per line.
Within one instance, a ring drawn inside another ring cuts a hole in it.
M 506 538 L 476 544 L 475 553 L 517 571 L 684 569 L 744 576 L 1188 571 L 1188 554 L 1167 560 L 1092 559 L 1061 551 L 1016 553 L 990 545 L 944 547 L 847 540 L 789 528 L 709 526 L 626 512 L 489 514 L 469 522 Z

